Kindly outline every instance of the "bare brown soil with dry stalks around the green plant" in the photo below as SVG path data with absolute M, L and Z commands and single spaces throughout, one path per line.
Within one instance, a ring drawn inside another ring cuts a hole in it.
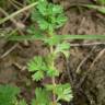
M 63 5 L 68 16 L 68 22 L 57 33 L 105 35 L 105 16 L 97 11 L 77 5 L 94 1 L 52 0 L 52 2 Z M 70 40 L 71 45 L 98 42 L 104 43 L 103 40 Z M 12 50 L 10 51 L 10 49 Z M 0 84 L 9 83 L 20 86 L 22 96 L 27 102 L 31 101 L 37 83 L 32 81 L 31 74 L 26 70 L 26 63 L 35 55 L 44 56 L 47 52 L 48 49 L 42 42 L 28 42 L 28 45 L 25 45 L 0 39 Z M 58 68 L 65 72 L 60 81 L 70 82 L 74 95 L 70 103 L 63 105 L 105 105 L 105 46 L 71 46 L 68 62 L 69 74 L 63 58 L 59 58 L 57 61 Z

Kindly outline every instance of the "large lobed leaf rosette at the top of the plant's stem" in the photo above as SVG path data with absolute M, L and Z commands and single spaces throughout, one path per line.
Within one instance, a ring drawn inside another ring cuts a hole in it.
M 62 7 L 48 3 L 47 0 L 38 1 L 38 4 L 32 11 L 31 19 L 38 23 L 40 30 L 48 32 L 62 26 L 67 21 Z

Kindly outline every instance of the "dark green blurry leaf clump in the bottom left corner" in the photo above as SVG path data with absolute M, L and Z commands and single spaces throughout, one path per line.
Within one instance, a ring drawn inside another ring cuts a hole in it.
M 0 85 L 0 105 L 14 105 L 19 88 L 12 85 Z

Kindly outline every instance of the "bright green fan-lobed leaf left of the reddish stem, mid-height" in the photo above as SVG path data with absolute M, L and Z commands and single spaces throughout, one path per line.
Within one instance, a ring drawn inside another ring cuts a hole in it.
M 47 63 L 44 61 L 44 58 L 40 56 L 34 57 L 34 59 L 27 63 L 27 68 L 28 71 L 34 72 L 32 78 L 33 80 L 36 81 L 44 79 L 45 71 L 48 70 Z

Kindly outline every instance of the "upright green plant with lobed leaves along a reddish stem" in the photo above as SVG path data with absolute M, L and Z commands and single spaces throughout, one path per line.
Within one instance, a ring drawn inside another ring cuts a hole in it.
M 35 2 L 35 0 L 32 0 L 32 2 Z M 27 32 L 44 42 L 48 46 L 49 54 L 44 57 L 35 56 L 27 67 L 34 81 L 38 82 L 48 77 L 51 79 L 51 83 L 45 83 L 44 88 L 35 90 L 36 97 L 33 100 L 32 105 L 61 105 L 60 101 L 70 102 L 72 98 L 69 83 L 56 83 L 56 78 L 59 77 L 60 72 L 55 66 L 55 60 L 60 54 L 63 54 L 65 58 L 68 59 L 70 48 L 70 45 L 60 35 L 56 34 L 56 30 L 67 22 L 67 18 L 60 5 L 49 3 L 47 0 L 36 2 L 37 5 L 31 11 L 33 25 Z M 35 23 L 38 25 L 38 33 L 34 27 Z

